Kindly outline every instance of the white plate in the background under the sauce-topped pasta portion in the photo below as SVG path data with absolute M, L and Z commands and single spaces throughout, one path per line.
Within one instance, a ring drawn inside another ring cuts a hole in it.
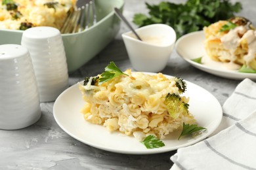
M 210 59 L 209 56 L 207 56 L 203 46 L 204 40 L 205 36 L 203 31 L 188 33 L 178 39 L 175 44 L 175 48 L 179 56 L 181 56 L 184 60 L 207 73 L 236 80 L 244 80 L 244 78 L 256 80 L 256 73 L 239 73 L 238 71 L 227 69 L 227 67 L 225 67 L 221 62 Z M 203 64 L 191 61 L 191 59 L 199 57 L 203 57 Z

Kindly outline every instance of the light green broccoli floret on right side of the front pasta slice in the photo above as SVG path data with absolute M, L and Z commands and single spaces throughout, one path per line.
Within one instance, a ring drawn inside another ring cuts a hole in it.
M 188 103 L 184 103 L 181 96 L 175 93 L 168 93 L 166 95 L 165 105 L 172 118 L 177 118 L 180 114 L 188 114 Z

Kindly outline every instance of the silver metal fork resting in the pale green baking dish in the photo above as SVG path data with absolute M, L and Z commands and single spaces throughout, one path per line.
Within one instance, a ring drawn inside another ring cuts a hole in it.
M 90 17 L 91 13 L 92 17 Z M 60 29 L 60 32 L 77 33 L 95 24 L 95 0 L 77 0 L 74 9 L 68 11 L 68 17 Z

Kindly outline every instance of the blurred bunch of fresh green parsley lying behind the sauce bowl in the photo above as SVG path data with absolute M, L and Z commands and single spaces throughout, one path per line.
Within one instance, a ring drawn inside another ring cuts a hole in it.
M 184 4 L 161 2 L 158 5 L 146 3 L 149 16 L 135 14 L 133 22 L 139 27 L 150 24 L 167 24 L 173 27 L 177 37 L 202 30 L 204 26 L 219 20 L 227 20 L 242 10 L 242 4 L 229 0 L 188 0 Z

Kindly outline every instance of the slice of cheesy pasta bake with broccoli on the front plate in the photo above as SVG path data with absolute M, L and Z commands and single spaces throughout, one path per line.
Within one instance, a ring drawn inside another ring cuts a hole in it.
M 182 96 L 186 82 L 162 73 L 122 72 L 114 62 L 98 76 L 79 83 L 85 120 L 108 131 L 134 135 L 139 141 L 152 135 L 164 139 L 185 124 L 196 124 L 188 110 L 189 97 Z M 199 129 L 198 129 L 199 130 Z M 153 137 L 154 138 L 154 137 Z

